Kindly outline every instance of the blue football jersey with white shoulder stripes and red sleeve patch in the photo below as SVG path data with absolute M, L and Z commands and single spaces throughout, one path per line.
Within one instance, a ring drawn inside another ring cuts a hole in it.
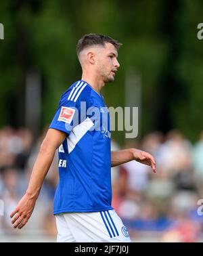
M 63 93 L 49 128 L 66 133 L 58 149 L 53 214 L 113 209 L 110 115 L 103 96 L 77 81 Z

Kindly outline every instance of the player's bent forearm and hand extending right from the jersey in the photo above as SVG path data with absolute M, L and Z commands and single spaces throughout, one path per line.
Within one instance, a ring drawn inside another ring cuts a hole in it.
M 144 165 L 149 165 L 154 173 L 156 173 L 156 162 L 152 154 L 137 150 L 136 148 L 128 148 L 125 150 L 112 151 L 111 152 L 111 165 L 115 167 L 129 161 L 137 161 Z

